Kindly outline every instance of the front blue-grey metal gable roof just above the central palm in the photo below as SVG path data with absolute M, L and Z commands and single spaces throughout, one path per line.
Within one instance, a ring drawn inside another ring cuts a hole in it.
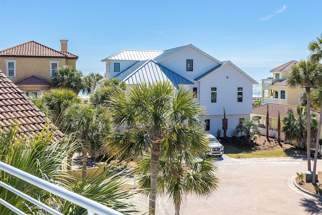
M 193 82 L 178 75 L 171 69 L 155 62 L 152 59 L 139 61 L 134 65 L 123 70 L 115 76 L 125 84 L 134 85 L 140 83 L 152 83 L 155 81 L 170 81 L 175 88 L 179 88 L 180 84 L 194 84 Z

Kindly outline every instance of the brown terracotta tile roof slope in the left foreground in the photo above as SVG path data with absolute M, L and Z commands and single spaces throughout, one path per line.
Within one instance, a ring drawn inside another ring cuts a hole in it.
M 0 129 L 8 129 L 13 124 L 20 124 L 20 137 L 40 133 L 46 125 L 55 129 L 53 141 L 63 136 L 48 121 L 46 115 L 0 70 Z

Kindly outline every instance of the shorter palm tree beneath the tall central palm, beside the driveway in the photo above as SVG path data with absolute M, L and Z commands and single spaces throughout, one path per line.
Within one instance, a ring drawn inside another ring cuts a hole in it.
M 150 161 L 150 156 L 147 156 L 138 165 L 140 187 L 146 190 L 150 188 Z M 180 214 L 181 204 L 187 194 L 208 196 L 218 188 L 219 179 L 215 176 L 217 167 L 213 160 L 202 160 L 191 155 L 189 150 L 173 158 L 160 158 L 159 168 L 157 193 L 172 198 L 176 215 Z

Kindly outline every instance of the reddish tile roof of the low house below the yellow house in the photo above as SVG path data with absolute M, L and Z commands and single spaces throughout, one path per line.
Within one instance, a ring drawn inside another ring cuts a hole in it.
M 253 114 L 258 116 L 264 116 L 266 118 L 268 105 L 268 115 L 270 118 L 278 118 L 278 111 L 280 111 L 280 118 L 282 119 L 286 116 L 287 109 L 292 109 L 296 113 L 296 105 L 284 105 L 284 104 L 274 104 L 268 103 L 261 106 L 253 108 Z M 315 112 L 316 118 L 319 119 L 320 112 L 311 108 L 311 113 Z

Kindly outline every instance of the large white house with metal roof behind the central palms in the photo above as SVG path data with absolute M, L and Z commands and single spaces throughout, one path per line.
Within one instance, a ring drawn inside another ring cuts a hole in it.
M 252 113 L 253 84 L 258 84 L 230 61 L 219 61 L 193 45 L 163 51 L 124 50 L 103 59 L 106 78 L 127 85 L 170 81 L 187 87 L 206 107 L 205 130 L 222 133 L 223 108 L 227 136 Z

